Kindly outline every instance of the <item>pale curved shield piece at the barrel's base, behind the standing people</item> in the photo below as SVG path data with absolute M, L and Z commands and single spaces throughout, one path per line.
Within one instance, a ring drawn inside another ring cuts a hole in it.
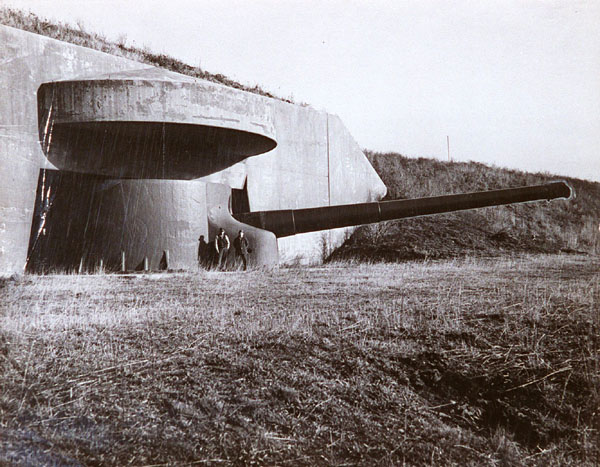
M 219 229 L 225 229 L 231 241 L 231 250 L 228 264 L 233 265 L 236 261 L 233 251 L 233 240 L 240 230 L 248 238 L 250 249 L 250 266 L 254 268 L 273 268 L 279 264 L 279 251 L 277 249 L 277 238 L 273 232 L 257 229 L 243 224 L 233 218 L 229 211 L 229 200 L 231 188 L 226 185 L 209 183 L 206 186 L 206 200 L 208 208 L 208 231 L 209 239 L 214 241 Z

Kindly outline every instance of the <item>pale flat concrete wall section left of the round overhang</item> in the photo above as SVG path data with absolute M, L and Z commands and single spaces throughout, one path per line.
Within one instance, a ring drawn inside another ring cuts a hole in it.
M 38 87 L 47 81 L 147 68 L 0 25 L 0 274 L 23 272 L 40 168 Z

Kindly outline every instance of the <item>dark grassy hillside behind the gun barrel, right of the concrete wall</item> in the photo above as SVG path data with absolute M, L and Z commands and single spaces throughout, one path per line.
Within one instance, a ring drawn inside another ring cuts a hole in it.
M 386 199 L 420 198 L 568 180 L 575 199 L 527 203 L 362 226 L 330 259 L 399 261 L 506 252 L 600 253 L 600 183 L 469 162 L 367 152 Z

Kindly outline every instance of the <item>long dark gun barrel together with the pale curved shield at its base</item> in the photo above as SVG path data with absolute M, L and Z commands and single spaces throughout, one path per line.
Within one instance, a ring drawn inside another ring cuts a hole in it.
M 253 245 L 253 262 L 277 264 L 277 238 L 306 232 L 371 224 L 387 220 L 428 216 L 453 211 L 532 201 L 569 199 L 574 196 L 565 181 L 501 190 L 399 199 L 359 204 L 283 209 L 229 214 L 227 209 L 209 213 L 209 221 L 230 233 L 244 229 Z M 217 215 L 215 215 L 217 214 Z

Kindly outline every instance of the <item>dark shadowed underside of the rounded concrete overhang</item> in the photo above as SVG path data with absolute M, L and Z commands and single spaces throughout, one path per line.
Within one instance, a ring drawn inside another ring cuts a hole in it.
M 120 178 L 189 180 L 275 148 L 232 128 L 164 122 L 55 123 L 42 147 L 59 169 Z

